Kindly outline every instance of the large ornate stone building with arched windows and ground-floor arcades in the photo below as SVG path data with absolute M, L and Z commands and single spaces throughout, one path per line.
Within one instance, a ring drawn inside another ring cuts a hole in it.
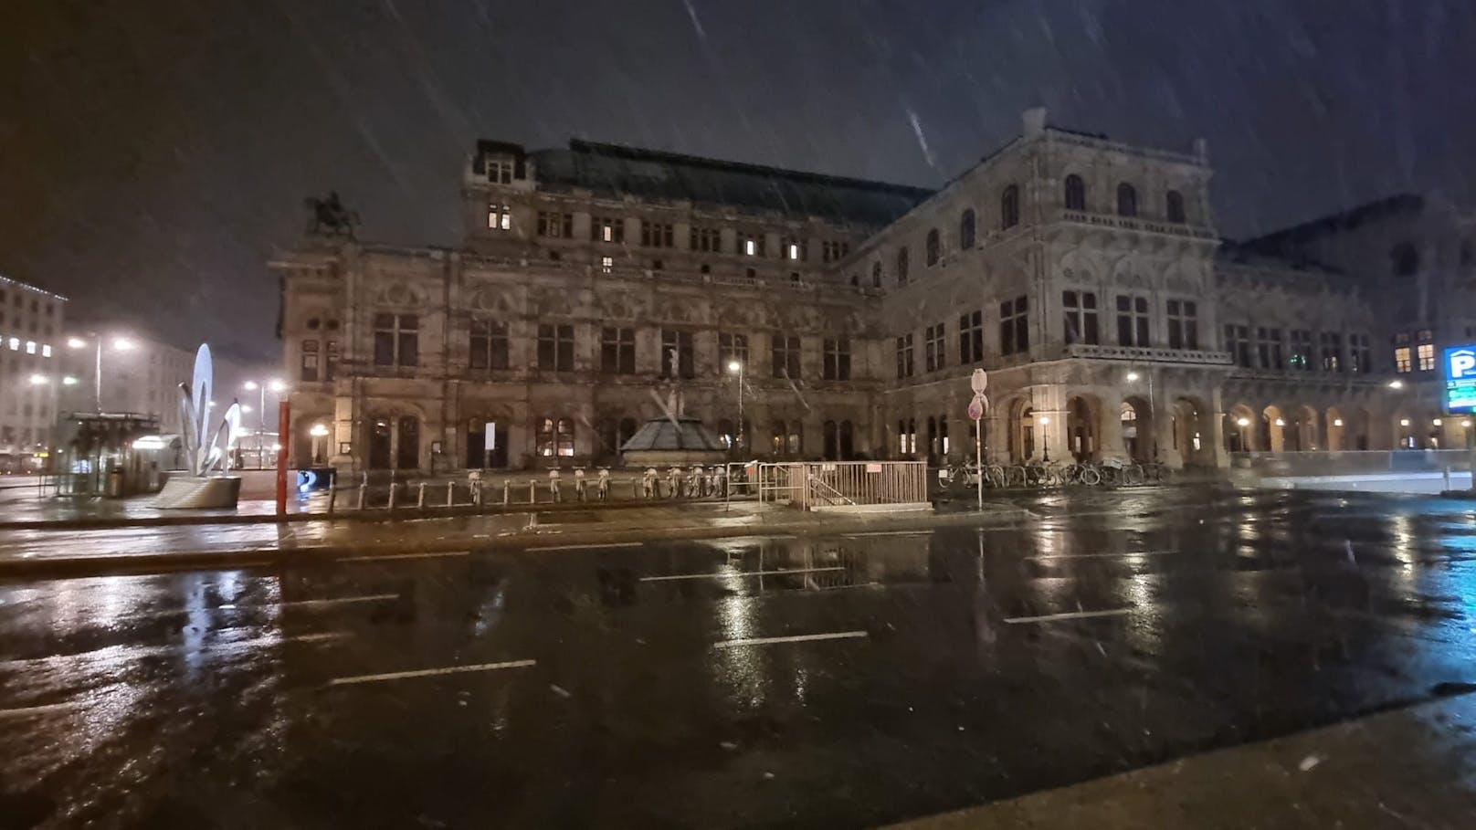
M 480 142 L 461 245 L 272 263 L 294 458 L 605 461 L 672 388 L 745 456 L 942 458 L 974 368 L 996 461 L 1461 445 L 1432 356 L 1476 334 L 1472 217 L 1396 198 L 1225 244 L 1210 174 L 1044 111 L 937 192 Z

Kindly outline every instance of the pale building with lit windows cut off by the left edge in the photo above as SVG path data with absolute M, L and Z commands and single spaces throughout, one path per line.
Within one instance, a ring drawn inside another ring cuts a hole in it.
M 0 473 L 50 446 L 65 313 L 65 297 L 0 275 Z

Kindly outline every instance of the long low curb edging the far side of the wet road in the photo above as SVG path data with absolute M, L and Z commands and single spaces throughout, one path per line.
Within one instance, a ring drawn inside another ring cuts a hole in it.
M 852 532 L 875 530 L 928 530 L 936 527 L 990 526 L 1005 521 L 1029 520 L 1029 511 L 1020 508 L 996 510 L 986 514 L 931 511 L 917 514 L 890 514 L 886 518 L 838 518 L 832 521 L 781 520 L 742 526 L 688 526 L 688 527 L 636 527 L 607 529 L 601 532 L 580 529 L 571 533 L 562 530 L 531 530 L 494 539 L 437 539 L 412 546 L 399 545 L 308 545 L 301 548 L 264 548 L 246 551 L 180 551 L 156 554 L 117 554 L 44 558 L 0 558 L 0 580 L 77 579 L 84 576 L 167 573 L 174 570 L 224 570 L 224 569 L 269 569 L 269 567 L 313 567 L 338 564 L 342 557 L 353 557 L 356 564 L 372 564 L 378 557 L 403 557 L 404 554 L 452 554 L 477 552 L 539 552 L 540 548 L 574 548 L 618 545 L 629 542 L 667 542 L 686 539 L 731 539 L 739 536 L 834 536 Z M 580 527 L 580 526 L 574 526 Z

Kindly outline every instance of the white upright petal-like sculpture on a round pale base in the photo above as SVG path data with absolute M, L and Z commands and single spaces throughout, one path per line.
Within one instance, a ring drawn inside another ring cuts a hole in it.
M 189 476 L 171 476 L 154 501 L 161 508 L 233 508 L 241 498 L 241 479 L 211 476 L 230 468 L 230 449 L 241 437 L 241 403 L 232 400 L 220 424 L 211 431 L 210 411 L 214 391 L 214 365 L 210 346 L 195 353 L 195 375 L 180 384 L 180 424 Z M 224 439 L 224 442 L 221 440 Z

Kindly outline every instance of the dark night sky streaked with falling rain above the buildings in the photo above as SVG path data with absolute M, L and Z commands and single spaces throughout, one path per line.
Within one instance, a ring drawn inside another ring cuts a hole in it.
M 1207 137 L 1227 236 L 1402 191 L 1476 204 L 1472 0 L 0 6 L 0 273 L 251 357 L 304 196 L 455 244 L 477 137 L 937 186 L 1045 105 Z

